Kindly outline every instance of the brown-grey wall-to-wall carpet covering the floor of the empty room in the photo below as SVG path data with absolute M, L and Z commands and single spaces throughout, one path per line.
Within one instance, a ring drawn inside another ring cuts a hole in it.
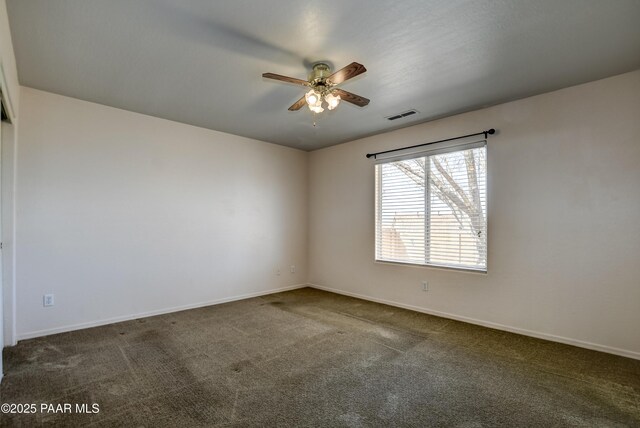
M 631 326 L 629 326 L 631 328 Z M 640 426 L 640 361 L 301 289 L 26 340 L 3 426 Z

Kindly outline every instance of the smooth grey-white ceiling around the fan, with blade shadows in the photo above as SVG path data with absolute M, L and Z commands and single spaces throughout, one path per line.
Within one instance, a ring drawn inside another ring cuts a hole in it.
M 640 68 L 638 0 L 8 0 L 22 85 L 312 150 Z M 287 108 L 310 64 L 371 99 Z M 389 122 L 384 117 L 417 109 Z M 487 124 L 491 126 L 492 124 Z

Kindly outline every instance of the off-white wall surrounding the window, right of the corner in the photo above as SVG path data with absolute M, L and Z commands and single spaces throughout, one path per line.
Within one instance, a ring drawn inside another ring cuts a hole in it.
M 488 274 L 374 263 L 365 154 L 491 127 Z M 640 71 L 312 152 L 309 280 L 640 358 L 639 165 Z

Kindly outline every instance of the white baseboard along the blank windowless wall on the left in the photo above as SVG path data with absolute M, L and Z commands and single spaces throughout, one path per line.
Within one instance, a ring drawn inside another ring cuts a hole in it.
M 138 319 L 138 318 L 152 317 L 152 316 L 156 316 L 156 315 L 169 314 L 169 313 L 172 313 L 172 312 L 185 311 L 185 310 L 188 310 L 188 309 L 201 308 L 201 307 L 204 307 L 204 306 L 219 305 L 221 303 L 234 302 L 236 300 L 250 299 L 252 297 L 266 296 L 268 294 L 281 293 L 283 291 L 295 290 L 295 289 L 304 288 L 304 287 L 308 287 L 308 284 L 290 285 L 290 286 L 287 286 L 287 287 L 281 287 L 281 288 L 276 288 L 276 289 L 272 289 L 272 290 L 257 291 L 255 293 L 240 294 L 240 295 L 237 295 L 237 296 L 225 297 L 225 298 L 216 299 L 216 300 L 210 300 L 210 301 L 207 301 L 207 302 L 199 302 L 199 303 L 192 303 L 192 304 L 182 305 L 182 306 L 174 306 L 174 307 L 171 307 L 171 308 L 159 309 L 159 310 L 156 310 L 156 311 L 141 312 L 141 313 L 137 313 L 137 314 L 133 314 L 133 315 L 124 315 L 124 316 L 120 316 L 120 317 L 107 318 L 107 319 L 102 319 L 102 320 L 98 320 L 98 321 L 91 321 L 91 322 L 86 322 L 86 323 L 67 325 L 67 326 L 62 326 L 62 327 L 46 329 L 46 330 L 37 330 L 37 331 L 31 331 L 31 332 L 27 332 L 27 333 L 18 333 L 17 339 L 18 339 L 18 341 L 25 340 L 25 339 L 33 339 L 35 337 L 49 336 L 49 335 L 58 334 L 58 333 L 66 333 L 68 331 L 82 330 L 82 329 L 91 328 L 91 327 L 99 327 L 101 325 L 114 324 L 114 323 L 122 322 L 122 321 L 130 321 L 130 320 L 134 320 L 134 319 Z

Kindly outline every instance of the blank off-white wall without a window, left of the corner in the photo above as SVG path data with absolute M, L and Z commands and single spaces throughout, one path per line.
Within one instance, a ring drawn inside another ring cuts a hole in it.
M 307 153 L 24 87 L 20 117 L 19 338 L 306 282 Z

